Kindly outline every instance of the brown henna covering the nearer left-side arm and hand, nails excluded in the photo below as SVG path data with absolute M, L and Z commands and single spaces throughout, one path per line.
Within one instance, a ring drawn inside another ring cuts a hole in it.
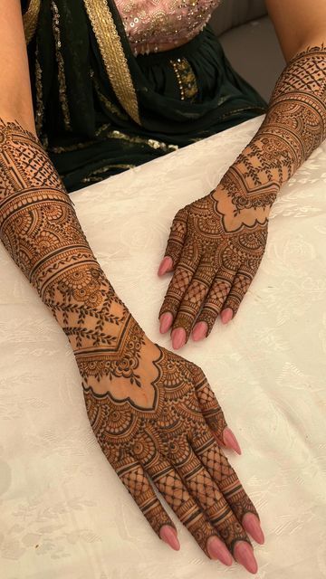
M 154 531 L 175 525 L 152 485 L 207 556 L 210 536 L 231 551 L 248 541 L 241 520 L 254 506 L 217 444 L 225 419 L 205 376 L 144 335 L 91 252 L 40 142 L 4 121 L 0 236 L 68 337 L 91 428 Z

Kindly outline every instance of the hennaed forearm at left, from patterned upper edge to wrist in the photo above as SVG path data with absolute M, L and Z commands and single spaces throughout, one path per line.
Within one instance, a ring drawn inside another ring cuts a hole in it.
M 0 237 L 78 356 L 118 347 L 130 315 L 101 270 L 38 139 L 0 123 Z

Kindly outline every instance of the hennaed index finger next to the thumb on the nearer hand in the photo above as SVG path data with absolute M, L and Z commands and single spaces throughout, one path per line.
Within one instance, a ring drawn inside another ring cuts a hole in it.
M 246 513 L 253 513 L 259 521 L 259 516 L 254 508 L 253 502 L 246 494 L 240 480 L 237 478 L 235 470 L 230 465 L 225 457 L 225 453 L 219 447 L 216 440 L 213 437 L 209 437 L 209 433 L 207 432 L 206 435 L 192 438 L 191 444 L 212 479 L 216 480 L 218 488 L 234 511 L 238 521 L 243 524 Z M 254 540 L 257 538 L 259 537 L 254 536 Z

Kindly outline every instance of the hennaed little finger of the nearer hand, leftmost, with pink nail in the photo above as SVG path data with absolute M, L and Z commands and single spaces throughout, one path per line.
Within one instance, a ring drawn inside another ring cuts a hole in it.
M 133 459 L 132 456 L 125 457 L 115 470 L 142 514 L 149 521 L 150 527 L 172 548 L 178 550 L 180 545 L 177 540 L 176 526 L 158 500 L 139 461 Z

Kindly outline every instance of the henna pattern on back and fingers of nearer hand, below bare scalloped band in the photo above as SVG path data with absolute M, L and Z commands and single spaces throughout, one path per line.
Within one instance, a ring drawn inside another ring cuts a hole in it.
M 146 345 L 142 356 L 149 356 Z M 207 539 L 214 535 L 232 552 L 236 541 L 249 541 L 241 521 L 245 512 L 256 511 L 209 427 L 221 437 L 222 410 L 198 366 L 157 345 L 148 363 L 155 368 L 150 407 L 137 403 L 135 384 L 129 385 L 128 399 L 119 402 L 114 384 L 103 394 L 83 386 L 91 427 L 156 533 L 171 521 L 149 479 L 206 555 Z M 139 374 L 145 393 L 147 376 Z

